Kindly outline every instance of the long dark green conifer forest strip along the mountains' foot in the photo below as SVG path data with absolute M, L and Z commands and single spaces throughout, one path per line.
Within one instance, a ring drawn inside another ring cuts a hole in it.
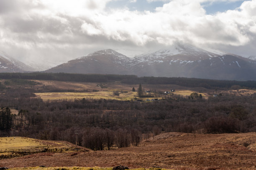
M 256 81 L 208 80 L 184 77 L 137 77 L 136 75 L 99 75 L 69 73 L 0 73 L 2 79 L 57 80 L 74 82 L 112 82 L 127 84 L 174 84 L 183 87 L 205 87 L 208 89 L 230 89 L 232 86 L 256 88 Z

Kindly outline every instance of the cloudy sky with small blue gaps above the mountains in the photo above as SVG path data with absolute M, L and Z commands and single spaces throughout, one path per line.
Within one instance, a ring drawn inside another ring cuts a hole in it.
M 0 51 L 25 63 L 176 42 L 256 55 L 256 0 L 0 0 Z

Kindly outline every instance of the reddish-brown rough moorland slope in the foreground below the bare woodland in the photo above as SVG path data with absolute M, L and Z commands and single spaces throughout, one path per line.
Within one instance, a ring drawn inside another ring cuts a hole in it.
M 177 170 L 256 170 L 255 141 L 256 133 L 164 133 L 142 141 L 138 147 L 77 153 L 38 153 L 1 160 L 0 167 L 125 165 L 129 168 L 158 166 Z

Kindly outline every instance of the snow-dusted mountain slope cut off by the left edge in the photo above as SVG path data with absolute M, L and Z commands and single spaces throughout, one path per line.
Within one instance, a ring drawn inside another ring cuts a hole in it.
M 35 69 L 0 51 L 0 72 L 26 71 L 35 71 Z

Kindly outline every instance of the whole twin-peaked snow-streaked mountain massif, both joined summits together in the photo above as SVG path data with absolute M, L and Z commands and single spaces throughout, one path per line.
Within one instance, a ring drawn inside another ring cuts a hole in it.
M 70 60 L 46 72 L 256 80 L 256 60 L 215 51 L 178 44 L 129 58 L 108 49 Z

